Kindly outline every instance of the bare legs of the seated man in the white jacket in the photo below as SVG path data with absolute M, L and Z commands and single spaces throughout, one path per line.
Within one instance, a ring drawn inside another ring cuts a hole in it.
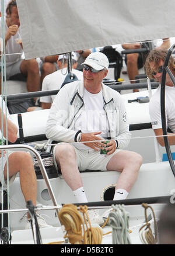
M 83 188 L 81 174 L 76 164 L 74 148 L 69 144 L 57 146 L 55 148 L 55 157 L 57 164 L 61 167 L 62 175 L 72 191 L 74 192 L 79 188 Z M 121 172 L 115 186 L 115 191 L 117 189 L 126 191 L 122 198 L 127 197 L 129 190 L 135 184 L 142 161 L 141 155 L 132 151 L 123 150 L 115 154 L 108 162 L 108 171 Z M 114 198 L 114 200 L 117 199 Z

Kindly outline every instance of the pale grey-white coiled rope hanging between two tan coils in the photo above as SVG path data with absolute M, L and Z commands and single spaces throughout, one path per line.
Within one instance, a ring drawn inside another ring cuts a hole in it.
M 108 215 L 108 224 L 113 229 L 113 244 L 131 244 L 129 238 L 129 213 L 124 205 L 112 205 Z

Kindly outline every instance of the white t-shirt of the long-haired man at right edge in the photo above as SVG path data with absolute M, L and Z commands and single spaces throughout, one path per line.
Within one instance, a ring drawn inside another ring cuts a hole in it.
M 150 121 L 154 130 L 162 129 L 160 87 L 161 85 L 159 85 L 149 102 Z M 165 87 L 165 113 L 166 126 L 175 133 L 175 88 L 167 85 Z

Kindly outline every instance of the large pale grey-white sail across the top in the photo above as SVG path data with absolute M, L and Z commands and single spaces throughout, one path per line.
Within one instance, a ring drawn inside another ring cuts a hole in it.
M 26 59 L 173 37 L 175 1 L 17 0 Z

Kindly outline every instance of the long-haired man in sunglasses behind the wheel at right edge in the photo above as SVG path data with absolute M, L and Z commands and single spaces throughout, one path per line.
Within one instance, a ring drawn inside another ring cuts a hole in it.
M 161 84 L 164 60 L 167 56 L 167 50 L 152 50 L 145 61 L 146 75 L 150 79 L 156 79 Z M 169 60 L 169 68 L 173 75 L 175 75 L 175 60 L 173 56 Z M 175 89 L 169 74 L 166 74 L 166 87 L 165 87 L 165 113 L 166 125 L 172 133 L 175 134 Z M 161 106 L 160 106 L 160 85 L 156 89 L 155 94 L 149 102 L 149 114 L 152 123 L 152 129 L 156 136 L 163 135 L 162 119 L 161 119 Z M 169 144 L 175 144 L 175 136 L 169 136 Z M 163 137 L 157 137 L 157 141 L 161 146 L 164 146 Z

